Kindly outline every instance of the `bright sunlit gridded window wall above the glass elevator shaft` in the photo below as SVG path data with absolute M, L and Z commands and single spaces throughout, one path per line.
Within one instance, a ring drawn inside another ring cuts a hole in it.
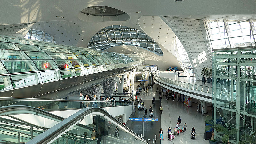
M 255 46 L 256 20 L 205 20 L 212 49 Z

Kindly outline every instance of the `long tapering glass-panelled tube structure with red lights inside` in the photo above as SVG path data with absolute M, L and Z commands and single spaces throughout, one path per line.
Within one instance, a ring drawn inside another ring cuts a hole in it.
M 133 67 L 136 54 L 97 51 L 0 35 L 0 91 Z

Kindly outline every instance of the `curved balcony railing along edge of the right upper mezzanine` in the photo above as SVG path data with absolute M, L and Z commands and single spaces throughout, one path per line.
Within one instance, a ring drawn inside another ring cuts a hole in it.
M 158 77 L 159 77 L 159 78 L 158 78 Z M 181 84 L 184 83 L 184 85 L 185 85 L 185 84 L 188 85 L 187 87 L 184 87 L 184 88 L 188 88 L 188 89 L 195 90 L 195 91 L 198 91 L 198 92 L 205 92 L 205 91 L 203 91 L 203 89 L 204 89 L 204 87 L 205 87 L 205 88 L 207 88 L 207 92 L 206 92 L 206 93 L 212 94 L 212 92 L 209 91 L 210 89 L 212 89 L 212 87 L 209 87 L 209 86 L 198 85 L 198 84 L 192 84 L 191 88 L 189 88 L 189 85 L 191 85 L 191 83 L 182 82 L 182 81 L 170 79 L 170 78 L 167 78 L 167 77 L 159 76 L 159 75 L 157 75 L 157 72 L 155 72 L 154 78 L 155 78 L 155 79 L 158 79 L 158 80 L 164 79 L 164 80 L 161 80 L 161 81 L 163 81 L 163 82 L 167 82 L 167 80 L 175 81 L 175 83 L 174 83 L 174 84 L 172 83 L 172 84 L 173 84 L 173 85 L 176 85 L 176 86 L 180 86 L 180 87 L 183 87 L 183 86 L 181 86 Z M 178 82 L 178 83 L 180 82 L 180 85 L 176 84 L 176 82 Z M 167 83 L 168 83 L 168 82 L 167 82 Z M 169 84 L 170 84 L 170 83 L 169 83 Z M 193 88 L 193 86 L 196 86 L 196 87 Z M 198 90 L 198 88 L 199 88 L 198 86 L 199 86 L 199 87 L 202 87 L 202 89 L 201 89 L 201 90 Z

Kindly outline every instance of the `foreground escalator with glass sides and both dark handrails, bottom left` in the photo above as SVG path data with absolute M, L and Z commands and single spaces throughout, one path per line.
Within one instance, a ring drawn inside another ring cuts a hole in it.
M 23 121 L 17 115 L 33 117 Z M 54 122 L 53 124 L 52 121 Z M 119 129 L 118 137 L 115 129 Z M 95 131 L 95 132 L 94 132 Z M 92 139 L 91 135 L 96 135 Z M 100 107 L 64 119 L 30 106 L 0 107 L 0 143 L 147 143 Z

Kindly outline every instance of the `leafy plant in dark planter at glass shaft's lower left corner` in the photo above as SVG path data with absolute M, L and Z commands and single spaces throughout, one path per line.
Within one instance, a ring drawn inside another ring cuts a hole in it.
M 217 140 L 214 139 L 213 130 L 216 127 L 219 127 L 220 124 L 214 124 L 214 120 L 212 119 L 212 116 L 206 116 L 205 117 L 205 123 L 209 124 L 209 125 L 205 126 L 205 131 L 210 131 L 212 129 L 212 137 L 211 137 L 211 139 L 209 139 L 209 144 L 217 144 Z

